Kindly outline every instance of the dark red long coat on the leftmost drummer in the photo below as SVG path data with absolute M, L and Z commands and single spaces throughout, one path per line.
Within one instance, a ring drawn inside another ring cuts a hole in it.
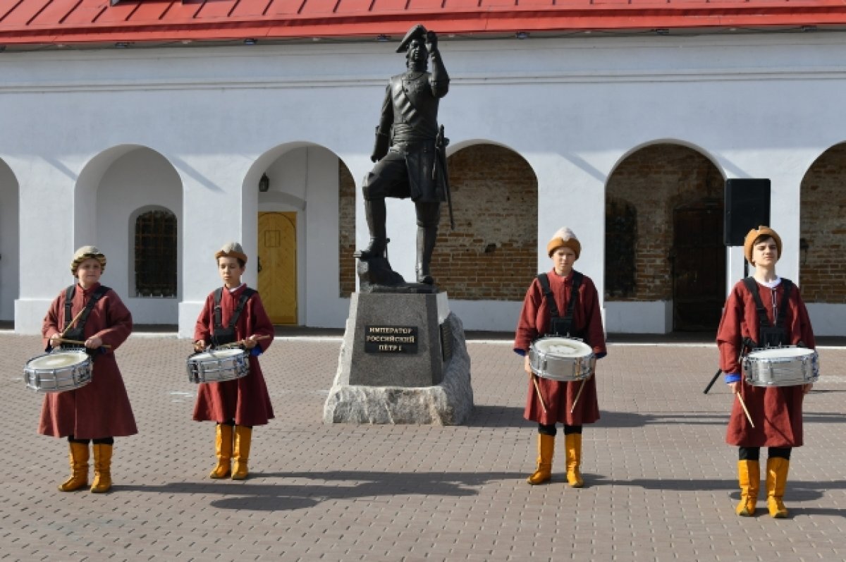
M 91 298 L 91 293 L 99 286 L 96 284 L 91 289 L 83 290 L 77 284 L 70 307 L 70 319 L 82 310 Z M 49 337 L 64 329 L 64 301 L 65 290 L 52 301 L 44 317 L 41 335 L 44 337 L 45 349 L 49 349 Z M 73 435 L 79 439 L 125 437 L 138 433 L 124 379 L 114 355 L 120 344 L 129 338 L 129 333 L 132 333 L 132 314 L 118 294 L 109 290 L 91 309 L 85 322 L 85 339 L 99 336 L 103 344 L 111 347 L 102 348 L 105 353 L 95 355 L 91 383 L 76 390 L 50 393 L 44 397 L 38 433 L 53 437 Z

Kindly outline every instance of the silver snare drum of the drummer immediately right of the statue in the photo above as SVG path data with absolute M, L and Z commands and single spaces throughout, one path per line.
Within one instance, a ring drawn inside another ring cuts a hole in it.
M 591 376 L 596 356 L 580 339 L 546 337 L 529 349 L 529 364 L 538 377 L 554 381 L 580 381 Z

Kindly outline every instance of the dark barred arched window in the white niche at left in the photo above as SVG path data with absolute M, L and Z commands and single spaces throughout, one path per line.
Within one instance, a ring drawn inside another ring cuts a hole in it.
M 176 296 L 176 215 L 142 212 L 135 219 L 135 296 Z

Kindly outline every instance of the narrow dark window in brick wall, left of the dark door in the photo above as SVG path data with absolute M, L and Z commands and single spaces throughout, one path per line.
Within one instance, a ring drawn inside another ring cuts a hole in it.
M 605 295 L 634 295 L 634 245 L 637 211 L 624 201 L 608 201 L 605 207 Z

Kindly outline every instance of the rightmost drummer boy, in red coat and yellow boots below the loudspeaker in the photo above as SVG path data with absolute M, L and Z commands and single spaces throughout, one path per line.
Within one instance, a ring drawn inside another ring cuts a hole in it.
M 734 400 L 726 442 L 738 446 L 740 502 L 738 515 L 755 515 L 761 487 L 759 458 L 767 447 L 766 506 L 772 517 L 787 517 L 784 488 L 790 452 L 802 446 L 802 402 L 811 384 L 753 386 L 741 377 L 742 356 L 755 348 L 799 345 L 814 349 L 814 332 L 799 287 L 776 274 L 782 239 L 766 226 L 752 229 L 744 256 L 755 273 L 734 285 L 717 331 L 720 369 Z M 745 410 L 748 410 L 747 417 Z

